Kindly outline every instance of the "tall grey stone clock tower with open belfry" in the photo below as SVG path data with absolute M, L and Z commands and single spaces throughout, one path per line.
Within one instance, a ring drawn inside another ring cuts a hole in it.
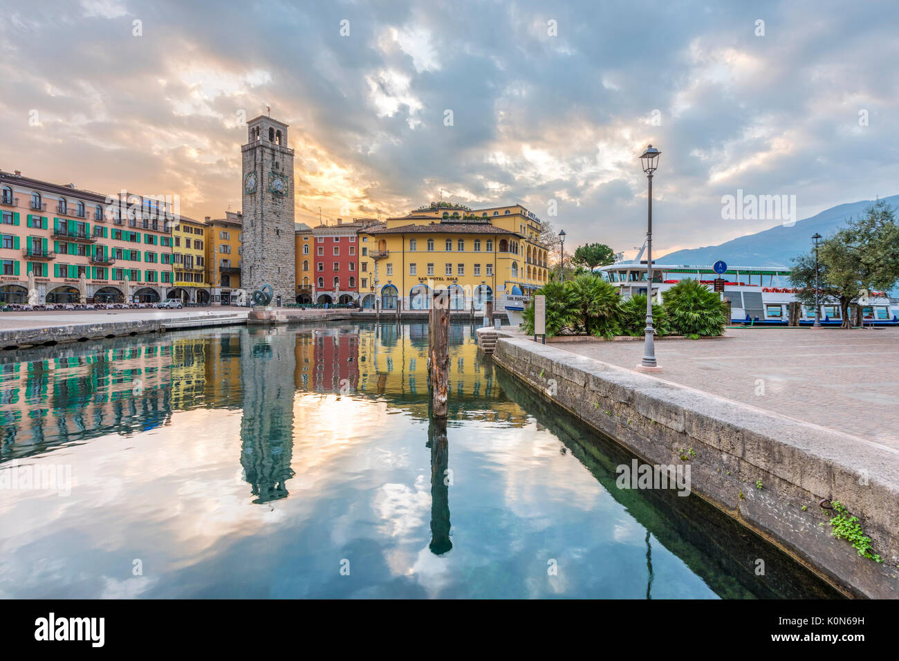
M 243 156 L 244 231 L 241 288 L 252 295 L 270 284 L 271 305 L 294 302 L 296 246 L 293 226 L 293 149 L 288 125 L 260 115 L 246 122 Z

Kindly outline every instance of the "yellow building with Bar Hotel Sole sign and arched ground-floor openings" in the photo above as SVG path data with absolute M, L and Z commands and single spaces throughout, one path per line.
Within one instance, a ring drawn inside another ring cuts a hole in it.
M 452 309 L 530 294 L 548 279 L 540 230 L 521 204 L 470 210 L 436 202 L 360 230 L 362 307 L 378 301 L 382 309 L 425 309 L 434 290 L 449 290 Z

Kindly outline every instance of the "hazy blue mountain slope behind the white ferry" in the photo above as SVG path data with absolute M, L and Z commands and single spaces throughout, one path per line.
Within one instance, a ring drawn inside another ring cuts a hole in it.
M 899 195 L 884 198 L 886 203 L 899 209 Z M 859 216 L 873 200 L 850 202 L 823 210 L 811 218 L 797 220 L 793 227 L 782 225 L 745 237 L 725 241 L 718 246 L 705 246 L 678 250 L 654 258 L 656 264 L 715 264 L 724 260 L 734 266 L 790 266 L 793 257 L 812 248 L 812 235 L 817 232 L 828 237 L 842 228 L 847 219 Z

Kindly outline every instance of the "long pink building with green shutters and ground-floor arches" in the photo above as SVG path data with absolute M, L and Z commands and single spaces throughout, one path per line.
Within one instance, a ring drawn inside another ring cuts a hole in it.
M 173 284 L 171 202 L 0 171 L 0 302 L 155 302 Z

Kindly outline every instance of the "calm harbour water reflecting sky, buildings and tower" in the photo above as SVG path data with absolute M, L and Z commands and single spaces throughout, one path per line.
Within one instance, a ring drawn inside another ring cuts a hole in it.
M 0 596 L 835 596 L 451 341 L 446 424 L 423 325 L 0 354 Z

